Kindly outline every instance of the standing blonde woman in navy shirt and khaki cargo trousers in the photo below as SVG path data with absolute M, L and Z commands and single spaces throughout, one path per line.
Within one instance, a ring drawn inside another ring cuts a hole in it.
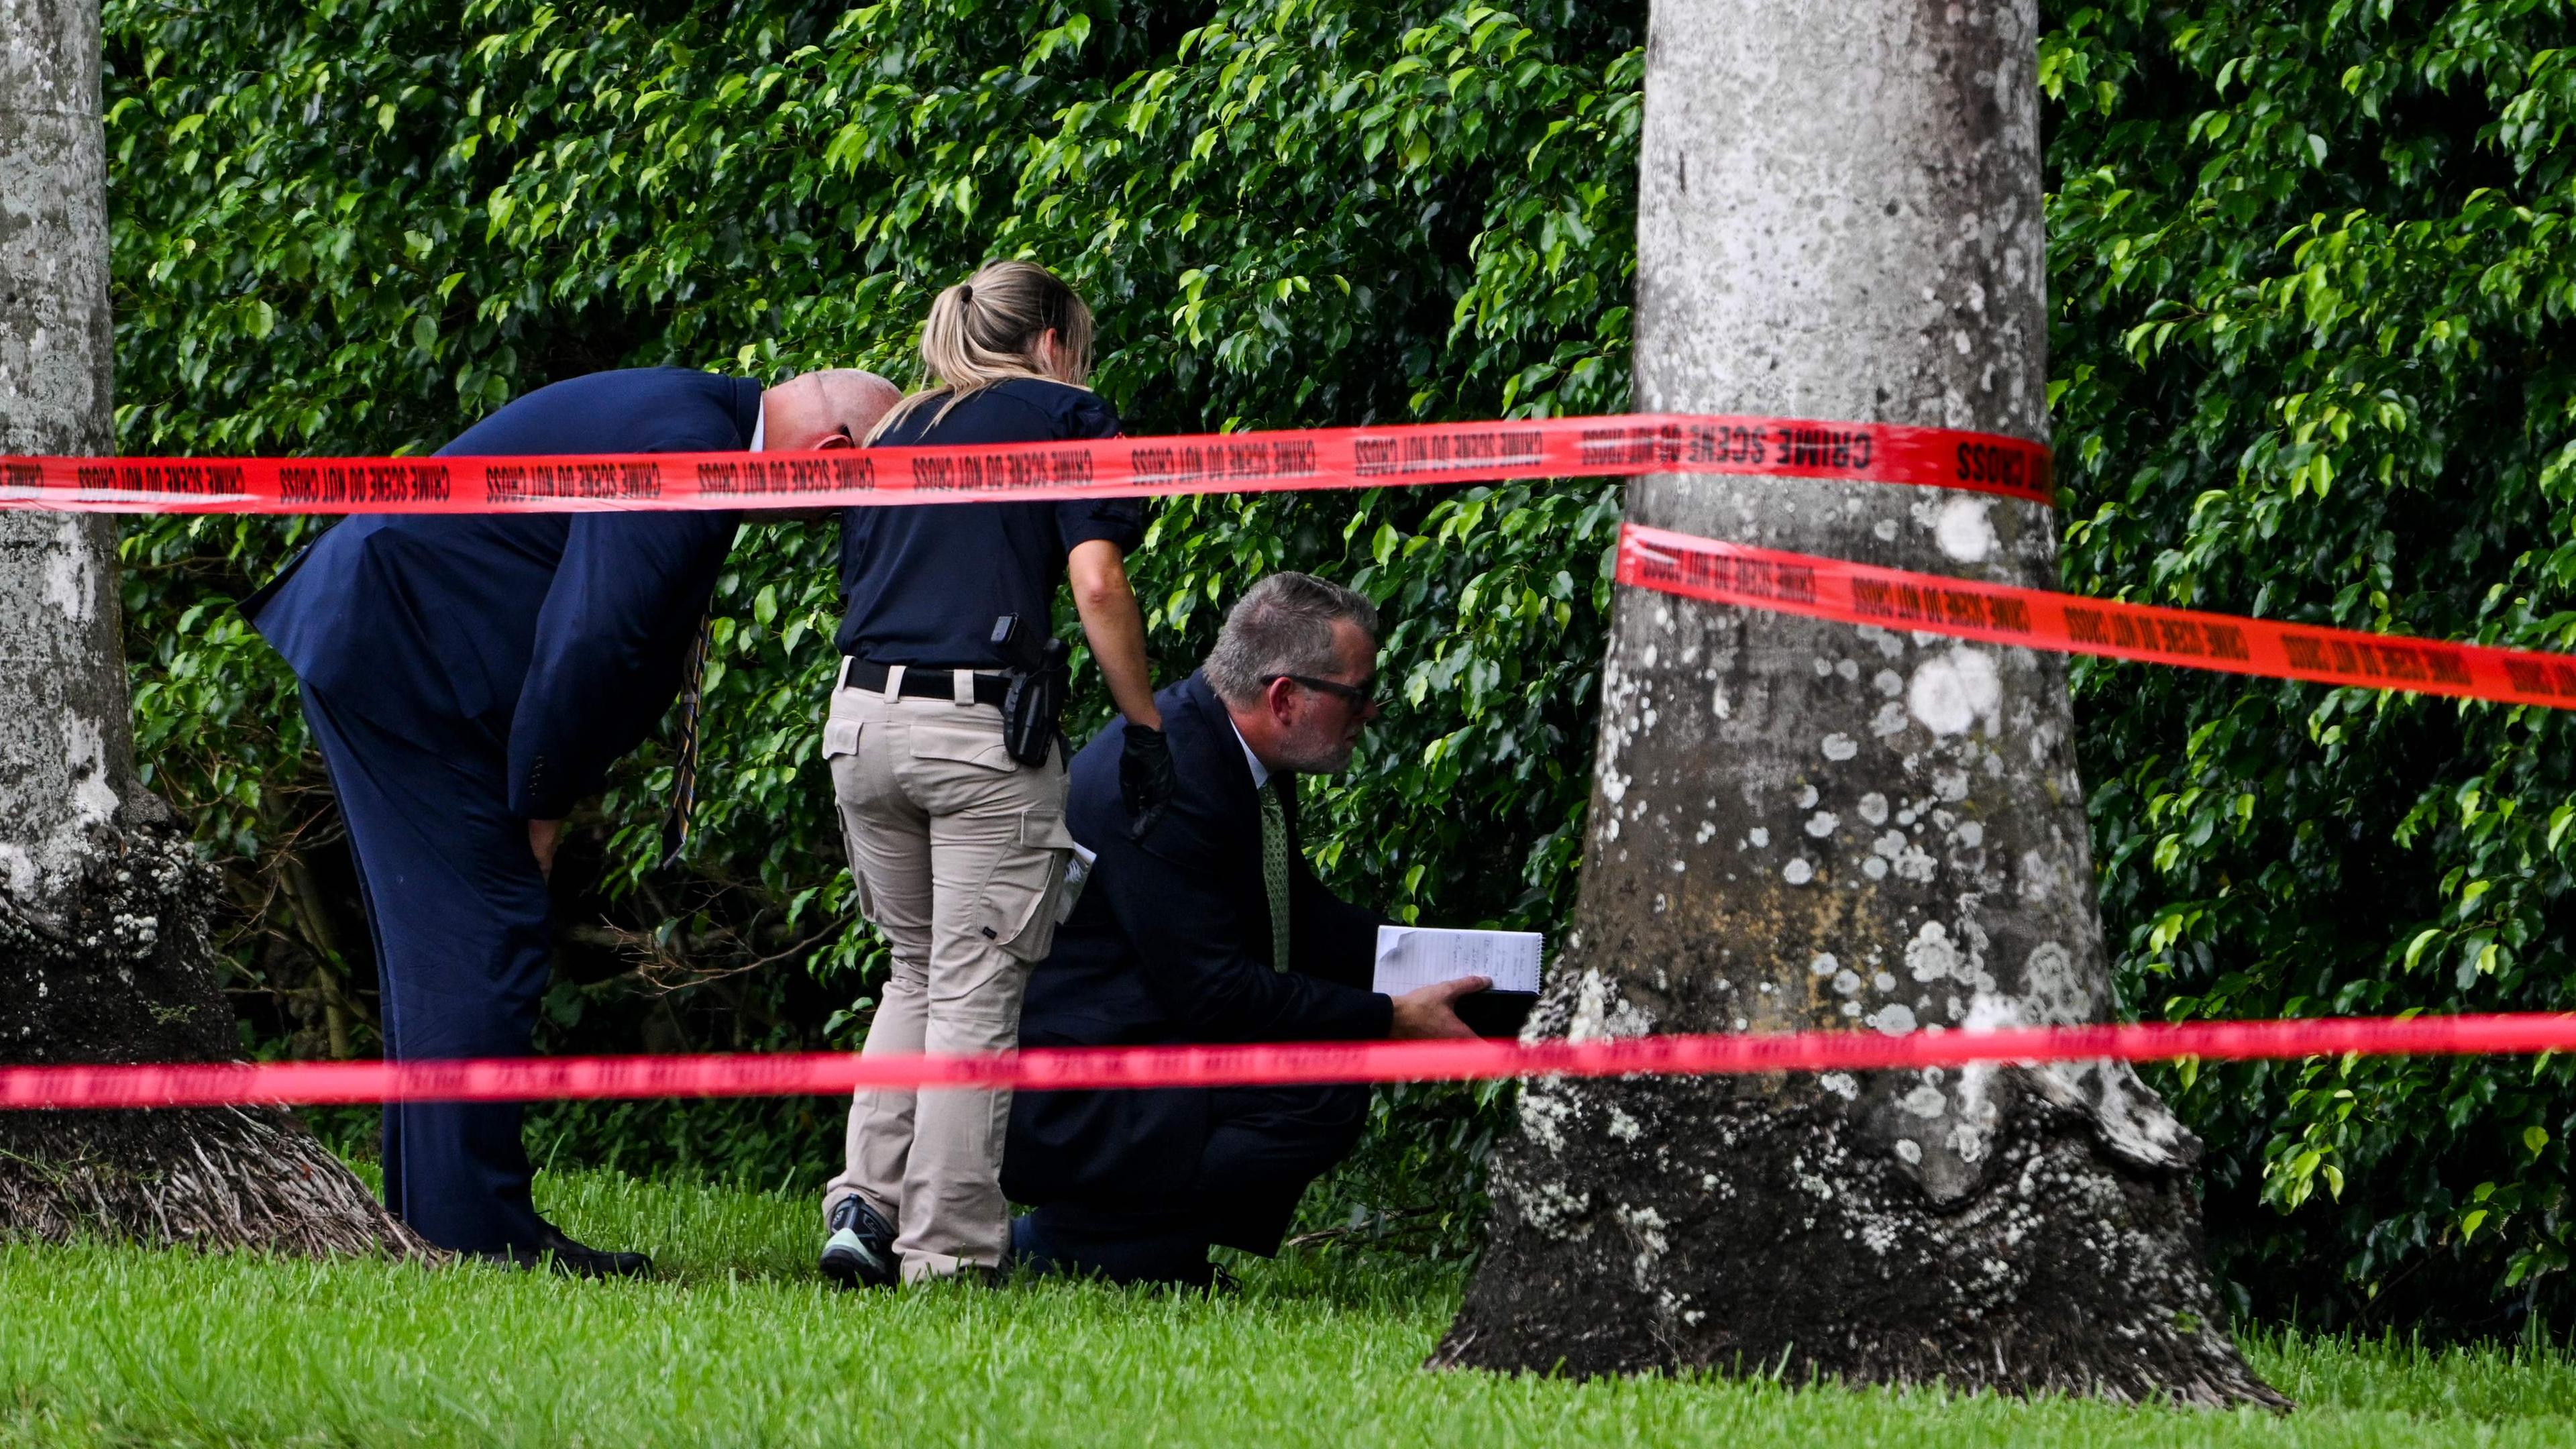
M 1051 271 L 989 263 L 922 325 L 930 387 L 868 446 L 1108 438 L 1118 415 L 1084 387 L 1092 312 Z M 1012 676 L 1043 678 L 1056 585 L 1072 580 L 1092 663 L 1128 722 L 1121 786 L 1139 833 L 1172 799 L 1172 755 L 1144 657 L 1126 554 L 1144 503 L 938 503 L 842 513 L 840 681 L 824 758 L 858 908 L 894 951 L 863 1052 L 1002 1052 L 1018 1044 L 1030 964 L 1046 954 L 1074 838 L 1064 748 L 1005 735 Z M 1023 763 L 1036 755 L 1036 763 Z M 824 1276 L 891 1287 L 1002 1266 L 1007 1091 L 860 1091 L 848 1165 L 824 1189 Z

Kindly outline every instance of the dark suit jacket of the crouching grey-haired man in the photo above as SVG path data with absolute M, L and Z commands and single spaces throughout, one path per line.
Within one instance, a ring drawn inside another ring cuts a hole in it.
M 1327 1042 L 1386 1036 L 1368 980 L 1381 918 L 1337 900 L 1288 853 L 1291 969 L 1270 969 L 1270 892 L 1252 766 L 1206 676 L 1154 696 L 1180 797 L 1144 843 L 1118 799 L 1126 722 L 1074 755 L 1066 825 L 1100 851 L 1054 951 L 1028 980 L 1023 1047 Z M 1293 781 L 1275 781 L 1293 784 Z M 1291 841 L 1296 789 L 1285 792 Z M 1002 1189 L 1018 1201 L 1167 1199 L 1208 1142 L 1211 1093 L 1018 1093 Z

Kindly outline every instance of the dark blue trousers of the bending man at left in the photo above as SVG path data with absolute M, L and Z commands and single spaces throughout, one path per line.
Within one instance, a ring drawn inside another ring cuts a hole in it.
M 510 815 L 507 748 L 420 712 L 402 730 L 304 691 L 376 936 L 394 1060 L 526 1057 L 546 993 L 546 882 Z M 384 1204 L 459 1253 L 533 1248 L 520 1104 L 384 1106 Z

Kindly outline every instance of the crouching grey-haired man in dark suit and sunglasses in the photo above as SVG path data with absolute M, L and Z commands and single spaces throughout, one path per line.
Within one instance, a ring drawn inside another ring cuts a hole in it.
M 1453 1003 L 1489 982 L 1368 990 L 1381 918 L 1329 895 L 1298 848 L 1296 776 L 1345 768 L 1378 714 L 1376 632 L 1368 598 L 1270 575 L 1206 668 L 1154 699 L 1180 773 L 1162 815 L 1123 802 L 1123 722 L 1074 758 L 1066 825 L 1100 859 L 1028 980 L 1023 1047 L 1471 1036 Z M 1002 1189 L 1036 1212 L 1012 1256 L 1208 1284 L 1211 1243 L 1278 1250 L 1365 1119 L 1365 1085 L 1020 1093 Z

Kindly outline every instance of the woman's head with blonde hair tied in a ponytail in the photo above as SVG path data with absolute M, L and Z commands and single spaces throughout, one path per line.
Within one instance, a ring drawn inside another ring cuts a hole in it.
M 1041 353 L 1056 333 L 1056 356 Z M 1048 366 L 1054 364 L 1054 366 Z M 1036 376 L 1082 387 L 1092 374 L 1092 309 L 1038 263 L 984 263 L 971 278 L 940 289 L 922 322 L 922 371 L 930 387 L 902 400 L 868 441 L 884 438 L 914 407 L 945 397 L 930 425 L 997 382 Z

